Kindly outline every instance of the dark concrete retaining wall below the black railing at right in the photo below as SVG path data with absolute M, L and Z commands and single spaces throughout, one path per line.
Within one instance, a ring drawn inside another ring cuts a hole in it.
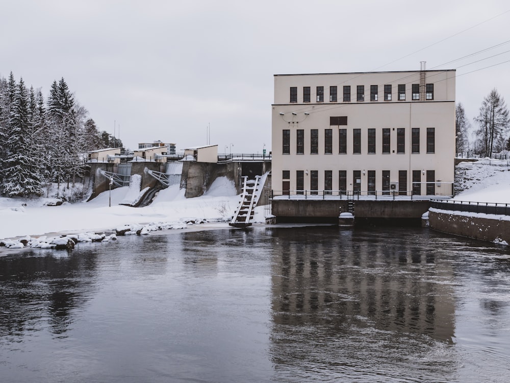
M 429 227 L 433 230 L 482 241 L 502 240 L 510 244 L 510 221 L 434 211 L 428 213 L 428 220 Z

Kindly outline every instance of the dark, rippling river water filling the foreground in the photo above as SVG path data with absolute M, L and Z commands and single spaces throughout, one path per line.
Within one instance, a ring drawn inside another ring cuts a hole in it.
M 10 252 L 0 381 L 508 382 L 510 247 L 260 226 Z

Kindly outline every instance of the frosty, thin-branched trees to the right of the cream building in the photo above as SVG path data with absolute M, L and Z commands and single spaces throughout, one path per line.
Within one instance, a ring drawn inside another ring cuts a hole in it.
M 483 99 L 478 116 L 473 119 L 476 129 L 469 139 L 471 123 L 461 103 L 455 107 L 456 153 L 472 152 L 481 157 L 492 157 L 510 151 L 510 117 L 503 97 L 496 89 Z

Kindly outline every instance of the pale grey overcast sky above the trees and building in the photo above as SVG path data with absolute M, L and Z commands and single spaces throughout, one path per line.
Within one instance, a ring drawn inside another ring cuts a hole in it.
M 418 70 L 426 61 L 457 69 L 456 101 L 470 119 L 493 88 L 510 102 L 506 0 L 2 3 L 0 76 L 12 71 L 45 98 L 63 77 L 98 129 L 115 127 L 131 149 L 206 145 L 210 124 L 220 152 L 270 150 L 275 74 Z

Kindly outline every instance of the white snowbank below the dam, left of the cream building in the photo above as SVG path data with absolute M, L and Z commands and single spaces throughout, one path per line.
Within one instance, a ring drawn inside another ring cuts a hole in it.
M 38 236 L 47 233 L 81 233 L 113 230 L 123 225 L 179 223 L 206 220 L 228 227 L 239 201 L 234 184 L 226 177 L 217 178 L 208 192 L 197 198 L 185 198 L 179 185 L 160 191 L 146 207 L 119 205 L 126 199 L 129 187 L 101 193 L 90 202 L 46 206 L 54 199 L 0 198 L 0 239 Z M 256 208 L 254 222 L 264 222 L 263 207 Z M 168 226 L 168 225 L 167 225 Z

